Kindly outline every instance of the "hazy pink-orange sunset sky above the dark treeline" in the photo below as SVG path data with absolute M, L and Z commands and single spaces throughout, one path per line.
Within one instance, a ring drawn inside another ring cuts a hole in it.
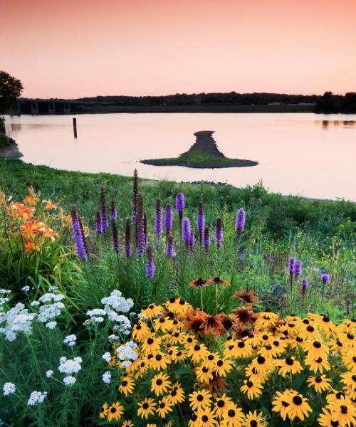
M 0 0 L 26 97 L 356 90 L 355 0 Z

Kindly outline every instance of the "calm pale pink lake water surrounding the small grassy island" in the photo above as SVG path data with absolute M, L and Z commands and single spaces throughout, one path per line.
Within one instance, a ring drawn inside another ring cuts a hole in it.
M 234 186 L 263 181 L 271 191 L 321 199 L 356 201 L 356 115 L 106 114 L 6 117 L 9 136 L 23 161 L 58 169 L 111 172 L 173 181 L 215 181 Z M 229 169 L 155 167 L 140 159 L 177 157 L 194 132 L 214 130 L 227 157 L 258 166 Z

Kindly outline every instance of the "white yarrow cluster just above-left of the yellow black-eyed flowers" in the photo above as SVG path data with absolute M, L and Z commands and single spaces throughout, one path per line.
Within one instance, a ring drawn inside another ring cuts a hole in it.
M 115 327 L 113 327 L 114 332 L 126 335 L 130 334 L 130 320 L 124 315 L 119 315 L 119 313 L 126 313 L 130 311 L 130 309 L 133 307 L 132 299 L 126 299 L 122 297 L 120 290 L 113 290 L 110 293 L 110 297 L 103 298 L 101 302 L 104 305 L 104 310 L 100 308 L 89 310 L 87 315 L 90 317 L 90 319 L 85 320 L 84 325 L 102 323 L 104 322 L 105 316 L 108 316 L 108 320 L 117 324 Z M 117 339 L 117 337 L 115 337 L 115 339 Z

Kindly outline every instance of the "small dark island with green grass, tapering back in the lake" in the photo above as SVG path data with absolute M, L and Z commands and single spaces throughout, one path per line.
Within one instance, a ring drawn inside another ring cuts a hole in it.
M 197 141 L 190 149 L 180 154 L 179 157 L 167 159 L 141 160 L 141 163 L 152 164 L 154 166 L 185 166 L 197 168 L 219 168 L 219 167 L 247 167 L 256 166 L 258 162 L 244 159 L 229 159 L 219 150 L 214 141 L 214 130 L 201 130 L 195 132 Z

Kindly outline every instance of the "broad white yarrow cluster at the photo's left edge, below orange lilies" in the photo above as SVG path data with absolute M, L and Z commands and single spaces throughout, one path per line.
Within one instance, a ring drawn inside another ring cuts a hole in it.
M 7 312 L 4 312 L 0 307 L 0 334 L 4 334 L 8 341 L 14 341 L 19 332 L 30 335 L 32 333 L 32 321 L 35 317 L 36 314 L 29 313 L 21 302 Z

